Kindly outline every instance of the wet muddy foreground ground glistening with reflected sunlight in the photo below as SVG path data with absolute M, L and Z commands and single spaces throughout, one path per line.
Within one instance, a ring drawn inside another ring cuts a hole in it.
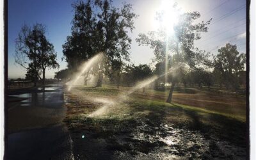
M 244 148 L 216 137 L 205 138 L 205 135 L 199 131 L 173 128 L 168 124 L 154 127 L 141 123 L 132 132 L 122 134 L 116 132 L 108 138 L 95 138 L 90 132 L 86 135 L 88 140 L 85 140 L 83 145 L 75 138 L 75 144 L 80 144 L 78 150 L 86 149 L 76 154 L 80 156 L 84 154 L 89 159 L 102 159 L 104 156 L 109 159 L 244 159 L 245 157 Z M 94 146 L 93 149 L 90 146 Z

